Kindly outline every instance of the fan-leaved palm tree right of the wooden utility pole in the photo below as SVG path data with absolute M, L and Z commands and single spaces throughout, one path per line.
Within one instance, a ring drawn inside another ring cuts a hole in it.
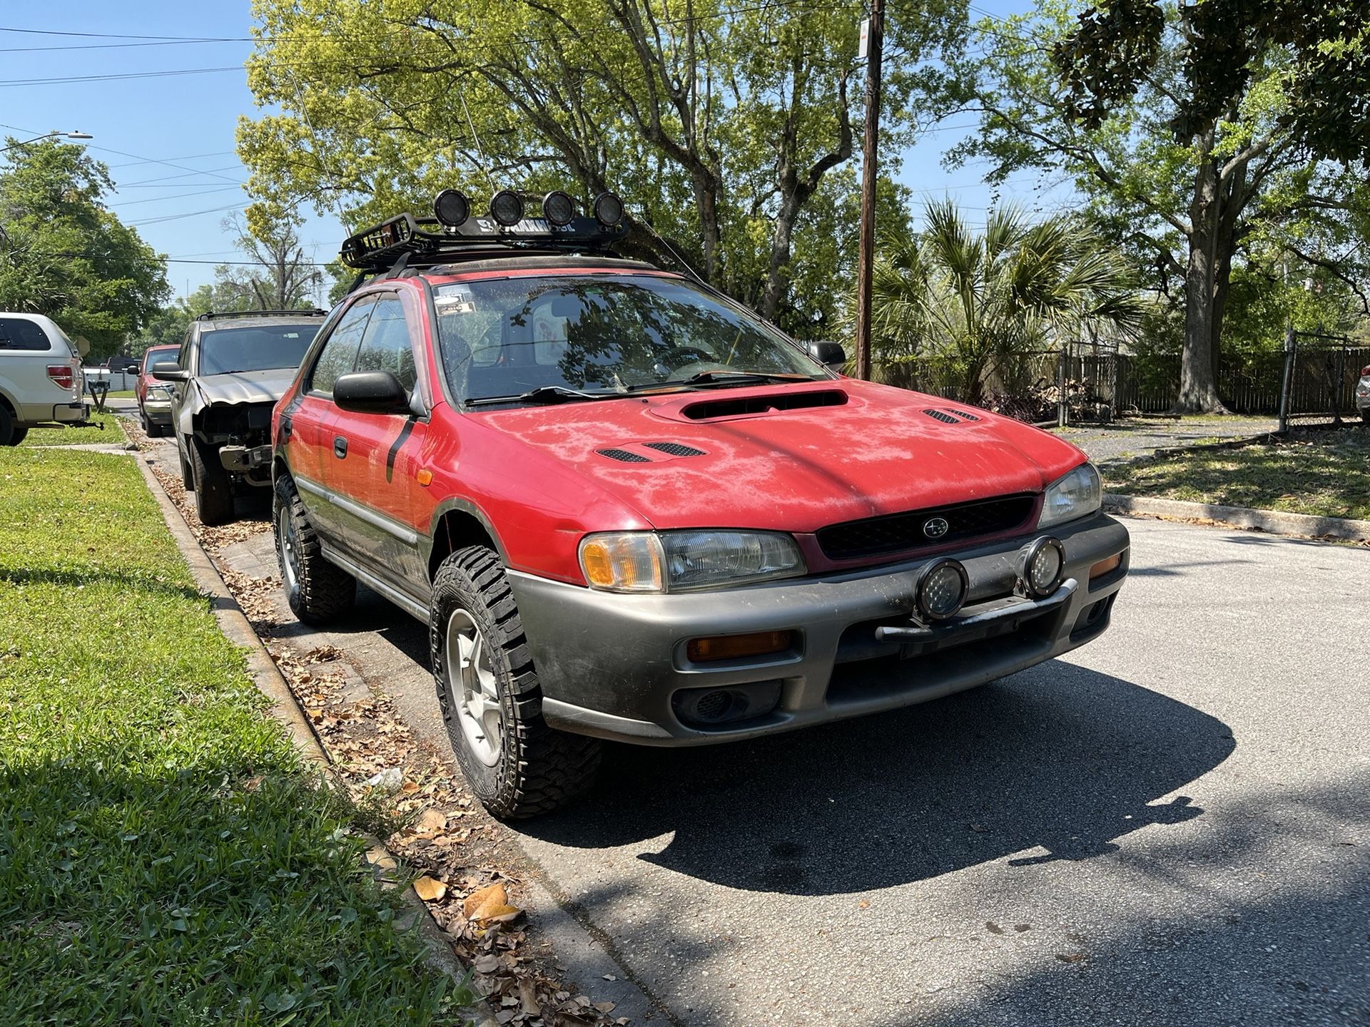
M 881 241 L 871 346 L 886 379 L 910 383 L 915 362 L 930 364 L 975 404 L 986 372 L 1015 356 L 1082 333 L 1132 333 L 1141 304 L 1129 278 L 1119 253 L 1073 215 L 1033 222 L 1007 207 L 977 234 L 952 201 L 929 203 L 922 233 Z

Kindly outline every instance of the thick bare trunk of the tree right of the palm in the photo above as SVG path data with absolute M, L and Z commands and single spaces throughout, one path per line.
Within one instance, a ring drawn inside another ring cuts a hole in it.
M 1214 366 L 1214 297 L 1218 274 L 1218 168 L 1210 129 L 1199 140 L 1195 196 L 1189 207 L 1189 266 L 1185 268 L 1185 345 L 1180 355 L 1180 397 L 1174 414 L 1228 414 L 1218 398 Z M 1204 145 L 1207 144 L 1207 145 Z

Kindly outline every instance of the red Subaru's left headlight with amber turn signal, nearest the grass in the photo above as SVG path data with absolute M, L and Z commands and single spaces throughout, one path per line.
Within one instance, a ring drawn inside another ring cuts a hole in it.
M 593 589 L 688 592 L 792 578 L 804 557 L 774 531 L 606 531 L 581 541 L 581 570 Z

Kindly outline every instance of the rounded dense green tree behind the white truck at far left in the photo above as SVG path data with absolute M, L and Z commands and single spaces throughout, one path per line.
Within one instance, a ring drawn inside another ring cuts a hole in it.
M 5 142 L 0 309 L 48 315 L 93 359 L 118 352 L 169 292 L 160 256 L 105 210 L 108 171 L 81 147 Z

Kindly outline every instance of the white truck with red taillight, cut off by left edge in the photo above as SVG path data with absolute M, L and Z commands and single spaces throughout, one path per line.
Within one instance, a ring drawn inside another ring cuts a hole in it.
M 40 424 L 84 424 L 84 388 L 77 344 L 51 318 L 0 311 L 0 445 Z

